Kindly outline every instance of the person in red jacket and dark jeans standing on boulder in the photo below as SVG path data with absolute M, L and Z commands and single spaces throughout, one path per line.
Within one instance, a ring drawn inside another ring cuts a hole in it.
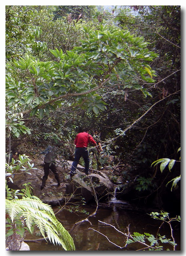
M 85 162 L 85 174 L 89 175 L 89 152 L 88 152 L 88 144 L 91 143 L 94 146 L 97 146 L 97 143 L 93 139 L 93 137 L 89 134 L 89 129 L 84 128 L 82 133 L 78 133 L 74 144 L 76 145 L 75 149 L 75 157 L 74 161 L 72 163 L 72 168 L 70 172 L 70 176 L 74 176 L 76 173 L 76 167 L 81 157 L 83 157 L 83 160 Z

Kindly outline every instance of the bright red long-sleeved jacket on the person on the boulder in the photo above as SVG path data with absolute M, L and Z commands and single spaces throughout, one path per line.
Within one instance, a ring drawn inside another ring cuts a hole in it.
M 97 145 L 93 137 L 86 132 L 78 133 L 74 140 L 74 144 L 76 145 L 76 147 L 80 148 L 87 148 L 89 142 L 95 146 Z

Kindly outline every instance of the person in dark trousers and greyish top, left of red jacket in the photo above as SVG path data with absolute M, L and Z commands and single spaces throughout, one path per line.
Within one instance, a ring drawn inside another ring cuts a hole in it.
M 44 168 L 44 176 L 42 178 L 41 190 L 46 185 L 46 180 L 48 179 L 49 169 L 53 172 L 55 179 L 57 180 L 57 185 L 60 186 L 59 174 L 57 173 L 55 166 L 55 157 L 56 154 L 53 151 L 51 146 L 48 146 L 43 152 L 40 154 L 45 154 L 43 168 Z

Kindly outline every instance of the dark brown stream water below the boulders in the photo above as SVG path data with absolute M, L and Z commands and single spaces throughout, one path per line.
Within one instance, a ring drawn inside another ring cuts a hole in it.
M 119 201 L 118 201 L 119 202 Z M 126 207 L 128 206 L 128 207 Z M 80 209 L 85 209 L 89 213 L 93 213 L 95 206 L 84 205 L 80 206 Z M 133 232 L 139 232 L 144 234 L 144 232 L 153 234 L 156 236 L 160 221 L 154 220 L 146 212 L 139 212 L 130 209 L 129 205 L 126 202 L 119 203 L 102 203 L 100 208 L 97 210 L 95 217 L 91 217 L 89 222 L 85 222 L 77 226 L 71 233 L 71 236 L 74 240 L 74 244 L 77 251 L 114 251 L 114 250 L 138 250 L 141 247 L 138 243 L 133 243 L 127 245 L 124 249 L 111 244 L 107 238 L 112 241 L 114 244 L 119 246 L 124 246 L 126 237 L 118 233 L 113 227 L 102 224 L 98 220 L 111 224 L 115 226 L 118 230 L 123 233 L 127 233 L 127 227 L 129 225 L 129 231 L 131 234 Z M 57 207 L 54 207 L 54 212 L 57 211 Z M 150 212 L 148 212 L 150 213 Z M 86 214 L 82 213 L 72 213 L 67 210 L 60 211 L 56 215 L 57 219 L 62 223 L 62 225 L 69 231 L 73 224 L 77 221 L 85 219 Z M 92 225 L 91 225 L 92 224 Z M 92 227 L 95 230 L 98 230 L 103 235 L 97 233 L 96 231 L 89 229 Z M 170 227 L 164 225 L 160 229 L 161 235 L 166 235 L 167 238 L 171 238 Z M 178 228 L 174 231 L 174 237 L 177 243 L 176 250 L 180 250 L 180 235 Z M 33 237 L 32 235 L 27 235 L 27 239 L 34 239 L 38 237 Z M 30 246 L 31 251 L 61 251 L 63 248 L 61 246 L 54 246 L 42 241 L 40 243 L 27 243 Z M 173 250 L 171 245 L 166 245 L 165 248 Z

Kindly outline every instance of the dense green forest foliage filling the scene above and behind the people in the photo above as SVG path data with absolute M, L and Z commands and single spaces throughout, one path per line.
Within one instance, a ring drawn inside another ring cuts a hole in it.
M 179 213 L 179 6 L 6 6 L 7 154 L 51 143 L 72 159 L 83 126 L 135 181 L 128 198 Z M 171 172 L 151 167 L 165 158 Z

